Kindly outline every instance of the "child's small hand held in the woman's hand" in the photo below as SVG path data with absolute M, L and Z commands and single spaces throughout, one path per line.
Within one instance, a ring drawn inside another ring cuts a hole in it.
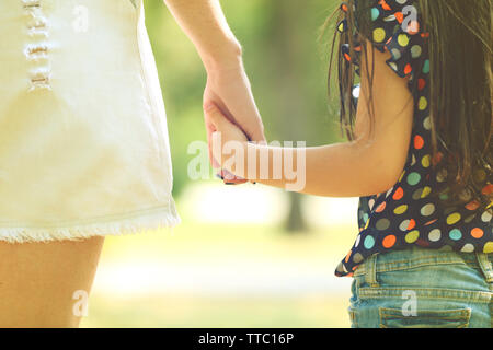
M 206 118 L 210 120 L 214 127 L 213 139 L 213 158 L 219 165 L 222 165 L 225 158 L 231 156 L 231 154 L 223 154 L 225 145 L 231 145 L 234 148 L 240 143 L 246 143 L 249 139 L 244 132 L 233 122 L 231 122 L 214 103 L 207 103 L 204 105 L 204 113 Z M 237 144 L 234 144 L 237 142 Z M 230 174 L 229 174 L 230 175 Z M 232 175 L 230 175 L 232 176 Z

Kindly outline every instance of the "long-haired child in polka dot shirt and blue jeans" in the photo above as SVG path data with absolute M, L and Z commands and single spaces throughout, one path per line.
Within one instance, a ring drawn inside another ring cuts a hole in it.
M 205 102 L 221 141 L 214 158 L 226 171 L 286 187 L 293 178 L 261 176 L 262 154 L 268 174 L 278 171 L 276 160 L 293 159 L 306 177 L 299 191 L 359 197 L 359 234 L 335 271 L 354 277 L 353 327 L 492 326 L 491 7 L 344 2 L 337 35 L 346 143 L 302 152 L 254 144 Z M 231 142 L 236 162 L 223 151 Z

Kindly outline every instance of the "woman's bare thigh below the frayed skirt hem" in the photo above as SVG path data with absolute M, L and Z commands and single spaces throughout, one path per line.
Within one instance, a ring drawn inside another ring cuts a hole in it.
M 103 242 L 0 242 L 0 327 L 78 327 Z

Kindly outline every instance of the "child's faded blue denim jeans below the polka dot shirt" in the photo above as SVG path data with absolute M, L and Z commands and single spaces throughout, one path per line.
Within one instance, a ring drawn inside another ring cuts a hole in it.
M 493 254 L 414 247 L 375 254 L 355 271 L 353 328 L 492 328 Z

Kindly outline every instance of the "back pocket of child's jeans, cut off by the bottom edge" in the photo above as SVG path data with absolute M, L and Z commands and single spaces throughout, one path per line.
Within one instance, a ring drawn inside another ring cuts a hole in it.
M 405 316 L 402 310 L 379 307 L 380 328 L 466 328 L 471 308 L 420 310 Z

